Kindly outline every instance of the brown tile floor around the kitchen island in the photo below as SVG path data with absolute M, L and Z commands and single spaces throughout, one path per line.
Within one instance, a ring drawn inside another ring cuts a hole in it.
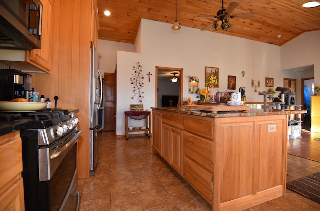
M 288 155 L 287 180 L 320 172 L 320 163 Z M 80 211 L 211 210 L 178 174 L 152 150 L 146 136 L 116 138 L 99 133 L 95 176 L 78 180 Z M 320 210 L 320 204 L 287 190 L 287 194 L 253 210 Z

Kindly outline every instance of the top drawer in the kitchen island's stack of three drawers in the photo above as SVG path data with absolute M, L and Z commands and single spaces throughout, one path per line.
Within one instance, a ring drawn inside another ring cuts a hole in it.
M 190 131 L 194 134 L 213 139 L 213 121 L 184 117 L 184 131 Z

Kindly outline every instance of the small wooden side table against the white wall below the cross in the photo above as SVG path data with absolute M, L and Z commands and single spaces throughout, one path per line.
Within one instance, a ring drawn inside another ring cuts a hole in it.
M 125 115 L 125 137 L 126 140 L 129 139 L 129 133 L 130 132 L 140 132 L 143 131 L 145 134 L 150 138 L 150 133 L 151 133 L 151 118 L 150 118 L 150 111 L 124 111 Z M 128 117 L 134 120 L 142 120 L 145 119 L 145 129 L 130 129 L 128 126 Z

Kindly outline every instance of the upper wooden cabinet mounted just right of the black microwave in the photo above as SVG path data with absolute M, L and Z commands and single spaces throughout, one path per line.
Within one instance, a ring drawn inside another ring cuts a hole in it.
M 26 60 L 40 69 L 48 72 L 51 70 L 51 41 L 52 41 L 52 8 L 51 0 L 41 0 L 42 11 L 42 47 L 26 51 Z

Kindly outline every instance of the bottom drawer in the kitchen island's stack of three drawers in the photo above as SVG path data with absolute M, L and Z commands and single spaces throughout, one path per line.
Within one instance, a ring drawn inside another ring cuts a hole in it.
M 192 162 L 188 157 L 183 158 L 183 178 L 209 203 L 212 204 L 213 184 L 212 175 Z

